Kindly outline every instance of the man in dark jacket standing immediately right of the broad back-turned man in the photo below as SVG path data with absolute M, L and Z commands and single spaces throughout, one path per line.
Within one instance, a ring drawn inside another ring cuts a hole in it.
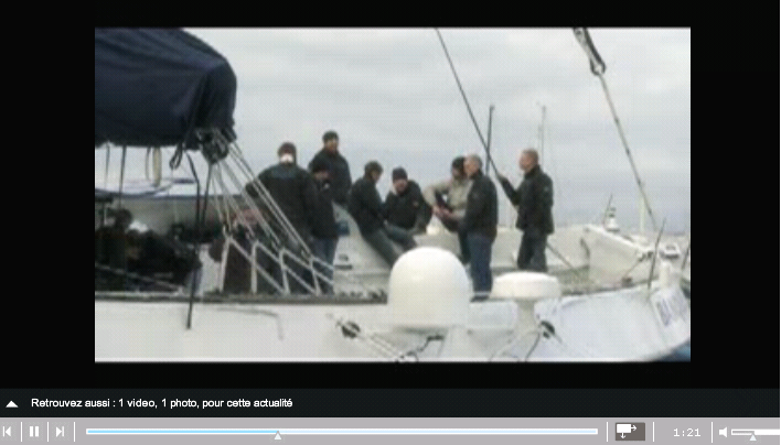
M 311 165 L 318 192 L 314 207 L 314 225 L 312 226 L 312 235 L 314 236 L 312 251 L 318 258 L 333 267 L 339 232 L 336 230 L 336 218 L 333 215 L 333 189 L 331 188 L 329 165 L 325 161 L 319 159 L 313 160 Z M 333 280 L 333 269 L 318 263 L 318 270 L 330 280 Z M 320 289 L 325 294 L 332 293 L 331 286 L 323 281 L 320 282 Z

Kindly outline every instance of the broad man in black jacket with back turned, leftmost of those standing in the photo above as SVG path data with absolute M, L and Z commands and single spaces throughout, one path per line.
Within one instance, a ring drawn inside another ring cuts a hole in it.
M 312 226 L 314 224 L 314 208 L 317 203 L 317 188 L 314 180 L 306 170 L 296 164 L 296 145 L 285 142 L 277 151 L 279 163 L 264 170 L 258 180 L 268 189 L 288 221 L 293 226 L 301 240 L 309 249 L 312 248 Z M 247 184 L 249 196 L 257 197 L 257 192 L 252 184 Z M 264 206 L 261 206 L 261 209 Z M 296 242 L 288 239 L 288 247 L 297 250 Z M 298 252 L 293 252 L 298 253 Z M 311 283 L 311 273 L 300 264 L 290 260 L 289 267 L 302 280 Z M 275 275 L 281 283 L 281 271 L 275 268 Z M 290 291 L 303 293 L 306 287 L 300 286 L 296 279 L 290 279 Z

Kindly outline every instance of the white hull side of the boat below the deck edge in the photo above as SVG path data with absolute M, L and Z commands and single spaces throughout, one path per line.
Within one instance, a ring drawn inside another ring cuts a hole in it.
M 470 304 L 469 323 L 428 332 L 395 326 L 388 306 L 374 304 L 195 303 L 96 299 L 96 361 L 394 361 L 418 350 L 422 361 L 646 361 L 670 355 L 691 338 L 688 306 L 680 286 L 643 287 L 544 300 L 533 329 L 512 301 Z M 341 322 L 340 322 L 341 321 Z M 361 329 L 351 338 L 338 322 Z M 374 338 L 390 348 L 378 349 Z M 509 344 L 515 341 L 512 347 Z M 536 345 L 535 345 L 536 344 Z

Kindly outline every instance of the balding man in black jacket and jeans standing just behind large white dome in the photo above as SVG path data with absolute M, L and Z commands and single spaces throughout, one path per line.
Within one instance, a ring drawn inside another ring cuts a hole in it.
M 477 154 L 467 158 L 463 170 L 472 180 L 472 187 L 467 196 L 467 214 L 459 221 L 459 232 L 466 234 L 471 257 L 471 274 L 474 292 L 484 293 L 477 300 L 488 297 L 493 286 L 491 275 L 491 246 L 496 239 L 499 223 L 499 203 L 496 187 L 482 174 L 482 161 Z

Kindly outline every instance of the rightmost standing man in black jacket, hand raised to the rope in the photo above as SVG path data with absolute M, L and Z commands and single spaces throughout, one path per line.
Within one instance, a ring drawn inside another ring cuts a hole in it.
M 521 270 L 547 272 L 545 249 L 548 235 L 554 232 L 553 181 L 541 170 L 533 149 L 523 151 L 518 164 L 524 177 L 517 189 L 513 189 L 506 177 L 499 176 L 504 193 L 518 208 L 515 227 L 523 230 L 523 238 L 517 265 Z

